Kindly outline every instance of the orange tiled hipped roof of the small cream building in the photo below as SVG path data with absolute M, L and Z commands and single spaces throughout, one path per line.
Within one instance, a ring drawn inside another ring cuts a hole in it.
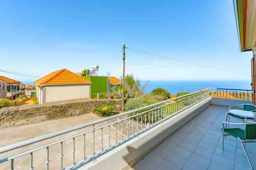
M 40 86 L 42 84 L 92 84 L 92 82 L 64 68 L 47 74 L 41 79 L 35 81 L 34 84 L 36 86 Z

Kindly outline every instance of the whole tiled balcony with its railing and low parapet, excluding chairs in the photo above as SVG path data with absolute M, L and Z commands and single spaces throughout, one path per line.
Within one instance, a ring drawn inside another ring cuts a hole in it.
M 12 170 L 14 167 L 72 170 L 250 169 L 235 138 L 227 136 L 224 152 L 221 149 L 221 128 L 228 106 L 251 103 L 250 90 L 236 91 L 247 97 L 231 95 L 228 89 L 221 93 L 224 96 L 216 96 L 220 89 L 204 89 L 4 146 L 0 148 L 0 167 Z M 235 118 L 230 121 L 239 122 Z M 255 167 L 254 143 L 247 143 L 246 149 Z

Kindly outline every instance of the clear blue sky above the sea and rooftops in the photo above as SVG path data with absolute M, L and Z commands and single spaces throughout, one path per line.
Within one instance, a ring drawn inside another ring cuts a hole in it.
M 43 76 L 62 68 L 80 72 L 97 64 L 100 75 L 111 72 L 120 77 L 125 43 L 165 57 L 126 50 L 126 73 L 143 80 L 251 78 L 252 53 L 239 51 L 231 0 L 5 1 L 0 15 L 3 70 Z

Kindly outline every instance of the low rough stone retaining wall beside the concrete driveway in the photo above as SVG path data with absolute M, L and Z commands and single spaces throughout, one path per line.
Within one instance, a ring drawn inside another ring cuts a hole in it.
M 109 100 L 69 100 L 36 104 L 31 106 L 6 107 L 0 109 L 0 127 L 9 127 L 46 121 L 51 119 L 68 118 L 90 113 L 100 104 L 114 104 L 117 111 L 121 110 L 120 99 Z

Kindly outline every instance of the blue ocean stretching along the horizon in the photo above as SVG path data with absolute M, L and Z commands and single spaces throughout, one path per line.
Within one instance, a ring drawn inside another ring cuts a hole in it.
M 33 81 L 22 81 L 27 85 L 33 85 Z M 144 92 L 149 94 L 153 89 L 164 88 L 172 95 L 176 95 L 178 92 L 194 92 L 205 88 L 219 88 L 224 89 L 251 89 L 251 81 L 242 80 L 171 80 L 171 81 L 156 81 L 151 80 L 146 83 L 142 81 L 142 86 L 146 84 Z

